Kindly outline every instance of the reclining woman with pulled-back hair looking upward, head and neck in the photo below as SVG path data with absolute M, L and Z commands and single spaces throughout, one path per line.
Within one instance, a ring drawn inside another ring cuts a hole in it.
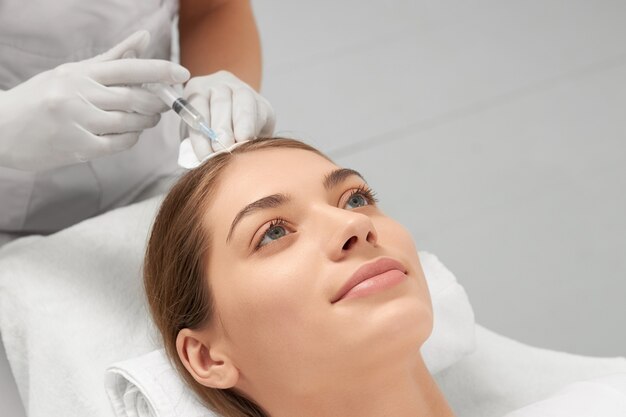
M 207 406 L 453 415 L 420 354 L 433 316 L 417 250 L 376 201 L 356 171 L 282 138 L 216 155 L 172 188 L 145 289 L 168 355 Z

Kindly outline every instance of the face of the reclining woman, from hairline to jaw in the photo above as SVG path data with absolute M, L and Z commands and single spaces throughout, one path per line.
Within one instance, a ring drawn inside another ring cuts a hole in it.
M 339 382 L 390 359 L 413 358 L 432 330 L 411 236 L 362 191 L 361 177 L 329 176 L 338 169 L 301 149 L 240 154 L 210 202 L 210 332 L 223 335 L 239 370 L 237 387 L 253 397 L 263 389 L 314 393 L 328 386 L 329 375 Z M 276 194 L 289 201 L 274 197 L 238 217 Z M 396 271 L 393 285 L 334 302 L 359 267 L 381 257 L 400 262 L 406 276 Z

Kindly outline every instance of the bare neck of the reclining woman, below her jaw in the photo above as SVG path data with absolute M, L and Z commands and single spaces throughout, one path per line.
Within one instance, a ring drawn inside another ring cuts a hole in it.
M 378 374 L 368 370 L 350 381 L 329 379 L 328 389 L 314 398 L 281 396 L 267 410 L 272 417 L 454 417 L 421 355 L 402 365 Z

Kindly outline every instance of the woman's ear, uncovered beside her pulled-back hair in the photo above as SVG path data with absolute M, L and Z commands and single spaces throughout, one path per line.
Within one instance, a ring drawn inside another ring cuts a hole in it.
M 215 335 L 217 339 L 219 335 Z M 178 357 L 200 384 L 226 389 L 239 379 L 239 370 L 211 335 L 199 330 L 182 329 L 176 337 Z M 211 343 L 214 342 L 214 343 Z

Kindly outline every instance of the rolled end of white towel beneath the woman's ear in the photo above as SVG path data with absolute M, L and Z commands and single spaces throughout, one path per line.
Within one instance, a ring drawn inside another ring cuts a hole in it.
M 185 386 L 164 349 L 109 367 L 105 389 L 117 416 L 218 417 Z

